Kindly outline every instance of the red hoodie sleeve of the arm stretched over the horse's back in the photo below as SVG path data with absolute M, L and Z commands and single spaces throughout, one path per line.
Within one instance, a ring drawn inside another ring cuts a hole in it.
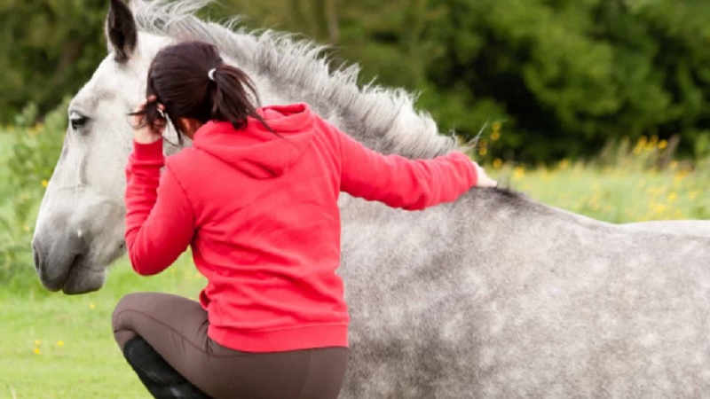
M 430 160 L 383 155 L 338 129 L 341 145 L 341 191 L 390 207 L 421 210 L 458 199 L 476 185 L 476 168 L 464 153 Z

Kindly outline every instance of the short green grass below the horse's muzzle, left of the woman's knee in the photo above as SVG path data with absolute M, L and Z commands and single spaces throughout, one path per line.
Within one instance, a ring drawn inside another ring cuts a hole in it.
M 0 398 L 150 398 L 114 342 L 114 306 L 136 291 L 195 299 L 201 286 L 182 259 L 154 278 L 120 262 L 99 293 L 0 293 Z

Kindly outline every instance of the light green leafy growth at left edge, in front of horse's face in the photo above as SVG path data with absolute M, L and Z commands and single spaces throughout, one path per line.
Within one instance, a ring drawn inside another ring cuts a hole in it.
M 0 214 L 0 282 L 36 286 L 32 270 L 33 225 L 44 187 L 61 153 L 68 102 L 36 123 L 36 106 L 28 106 L 15 118 L 11 153 L 4 159 L 7 178 Z

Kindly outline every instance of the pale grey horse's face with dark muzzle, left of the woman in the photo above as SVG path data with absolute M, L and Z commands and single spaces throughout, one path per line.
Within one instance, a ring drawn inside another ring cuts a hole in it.
M 132 138 L 127 113 L 145 96 L 150 61 L 168 43 L 147 34 L 135 39 L 130 49 L 113 43 L 111 54 L 69 106 L 64 148 L 32 242 L 36 270 L 48 290 L 99 290 L 108 265 L 125 252 L 122 198 Z M 122 51 L 130 51 L 130 58 L 120 59 Z

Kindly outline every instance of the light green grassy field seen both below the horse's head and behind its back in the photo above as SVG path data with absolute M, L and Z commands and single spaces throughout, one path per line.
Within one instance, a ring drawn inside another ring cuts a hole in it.
M 0 152 L 9 141 L 0 133 Z M 499 164 L 488 170 L 535 199 L 613 223 L 710 218 L 704 170 L 673 164 L 663 172 L 644 172 L 568 162 L 551 169 Z M 3 173 L 0 168 L 0 182 L 6 178 Z M 35 278 L 27 286 L 37 284 Z M 136 291 L 194 298 L 202 284 L 183 258 L 155 278 L 140 278 L 125 261 L 119 262 L 103 290 L 78 297 L 36 289 L 0 291 L 0 398 L 150 397 L 114 344 L 114 305 L 123 294 Z

